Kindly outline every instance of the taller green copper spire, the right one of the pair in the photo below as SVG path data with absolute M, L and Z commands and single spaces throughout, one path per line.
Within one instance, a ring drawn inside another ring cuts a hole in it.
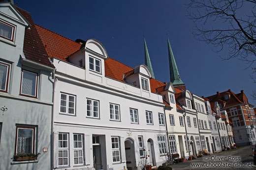
M 171 45 L 169 42 L 169 39 L 167 37 L 167 43 L 168 43 L 168 54 L 169 54 L 169 66 L 170 66 L 170 76 L 171 76 L 171 83 L 173 85 L 178 85 L 178 84 L 185 84 L 180 77 L 172 50 L 171 50 Z

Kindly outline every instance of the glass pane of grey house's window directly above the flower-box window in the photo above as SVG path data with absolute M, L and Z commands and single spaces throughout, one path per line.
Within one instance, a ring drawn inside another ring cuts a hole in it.
M 23 71 L 22 91 L 24 95 L 35 96 L 36 74 Z

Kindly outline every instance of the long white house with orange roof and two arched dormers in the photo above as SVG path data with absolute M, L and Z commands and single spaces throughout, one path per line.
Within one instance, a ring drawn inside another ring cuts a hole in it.
M 132 69 L 109 58 L 95 39 L 77 43 L 37 30 L 57 69 L 54 168 L 135 170 L 145 161 L 143 149 L 151 165 L 165 162 L 164 104 L 148 67 Z

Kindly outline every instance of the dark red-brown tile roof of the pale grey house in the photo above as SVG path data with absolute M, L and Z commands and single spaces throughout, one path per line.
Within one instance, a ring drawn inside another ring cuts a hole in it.
M 35 25 L 30 13 L 19 7 L 16 7 L 16 9 L 31 24 L 30 28 L 27 28 L 25 30 L 25 36 L 24 36 L 23 52 L 25 54 L 26 59 L 54 68 L 40 40 L 40 37 L 35 28 Z

